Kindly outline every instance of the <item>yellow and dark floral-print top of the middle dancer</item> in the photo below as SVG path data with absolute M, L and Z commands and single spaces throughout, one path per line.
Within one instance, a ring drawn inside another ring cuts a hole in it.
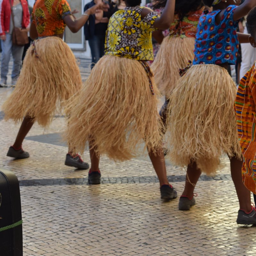
M 126 7 L 115 12 L 109 22 L 105 54 L 135 60 L 153 60 L 152 31 L 158 15 L 149 13 L 141 18 L 144 7 Z

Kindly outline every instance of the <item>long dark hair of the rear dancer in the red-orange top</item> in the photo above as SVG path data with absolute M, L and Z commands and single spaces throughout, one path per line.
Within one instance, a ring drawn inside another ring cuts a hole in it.
M 153 3 L 155 9 L 163 8 L 167 0 L 159 0 Z M 203 6 L 202 0 L 176 0 L 175 10 L 176 14 L 180 15 L 180 20 L 184 18 L 190 11 L 196 11 Z

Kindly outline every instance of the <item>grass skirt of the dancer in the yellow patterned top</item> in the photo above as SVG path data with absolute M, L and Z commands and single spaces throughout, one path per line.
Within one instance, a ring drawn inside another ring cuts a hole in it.
M 152 77 L 153 78 L 153 77 Z M 90 141 L 97 156 L 131 159 L 139 143 L 153 152 L 162 147 L 162 122 L 157 111 L 158 90 L 137 60 L 103 56 L 76 95 L 64 135 L 73 151 L 83 152 Z M 144 149 L 145 149 L 144 148 Z

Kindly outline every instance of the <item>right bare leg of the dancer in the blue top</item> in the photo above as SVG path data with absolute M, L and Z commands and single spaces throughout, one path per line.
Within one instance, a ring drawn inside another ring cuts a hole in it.
M 243 161 L 238 160 L 236 157 L 230 159 L 231 177 L 236 188 L 240 209 L 250 212 L 252 209 L 251 192 L 244 186 L 241 174 L 242 165 Z

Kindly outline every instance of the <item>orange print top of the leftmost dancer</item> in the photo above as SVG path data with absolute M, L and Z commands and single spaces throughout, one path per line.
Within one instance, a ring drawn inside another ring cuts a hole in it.
M 66 0 L 36 0 L 31 16 L 38 36 L 42 37 L 62 34 L 67 15 L 72 13 Z

